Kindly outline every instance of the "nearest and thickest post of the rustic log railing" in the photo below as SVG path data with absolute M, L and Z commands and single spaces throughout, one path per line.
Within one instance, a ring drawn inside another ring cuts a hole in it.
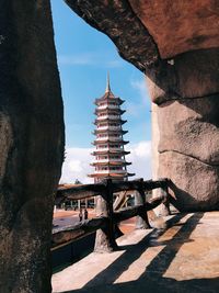
M 106 180 L 106 189 L 102 195 L 96 196 L 96 216 L 107 218 L 106 228 L 96 232 L 95 252 L 111 252 L 117 248 L 113 221 L 113 189 L 112 180 Z

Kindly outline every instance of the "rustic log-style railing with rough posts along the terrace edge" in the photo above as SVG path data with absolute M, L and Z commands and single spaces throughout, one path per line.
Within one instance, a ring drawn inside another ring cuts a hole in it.
M 153 210 L 158 205 L 163 205 L 163 212 L 168 215 L 169 209 L 169 180 L 157 181 L 119 181 L 113 182 L 111 179 L 97 184 L 81 184 L 73 188 L 60 188 L 56 194 L 56 202 L 66 200 L 82 200 L 96 196 L 96 217 L 77 223 L 70 227 L 57 227 L 53 229 L 51 250 L 67 245 L 78 238 L 96 232 L 95 251 L 112 251 L 116 249 L 115 229 L 122 221 L 137 216 L 137 228 L 149 228 L 147 211 Z M 147 199 L 147 191 L 161 189 L 160 195 L 151 200 Z M 113 210 L 113 195 L 122 191 L 135 192 L 135 206 Z

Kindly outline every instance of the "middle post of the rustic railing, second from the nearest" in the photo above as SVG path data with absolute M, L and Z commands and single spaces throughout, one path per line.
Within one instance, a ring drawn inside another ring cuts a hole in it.
M 139 189 L 135 194 L 135 205 L 142 205 L 142 209 L 140 209 L 139 214 L 136 217 L 136 228 L 137 229 L 150 228 L 147 211 L 145 209 L 146 194 L 145 194 L 142 182 L 143 182 L 143 179 L 140 179 L 139 180 Z

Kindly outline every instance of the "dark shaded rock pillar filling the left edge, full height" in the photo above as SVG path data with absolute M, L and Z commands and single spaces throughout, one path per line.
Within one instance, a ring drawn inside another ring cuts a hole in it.
M 49 1 L 0 3 L 0 292 L 50 288 L 62 102 Z

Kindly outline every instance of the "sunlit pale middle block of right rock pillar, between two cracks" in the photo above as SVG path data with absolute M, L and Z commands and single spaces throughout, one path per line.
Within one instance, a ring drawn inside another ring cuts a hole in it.
M 218 95 L 162 103 L 159 153 L 176 151 L 219 167 L 218 109 Z

